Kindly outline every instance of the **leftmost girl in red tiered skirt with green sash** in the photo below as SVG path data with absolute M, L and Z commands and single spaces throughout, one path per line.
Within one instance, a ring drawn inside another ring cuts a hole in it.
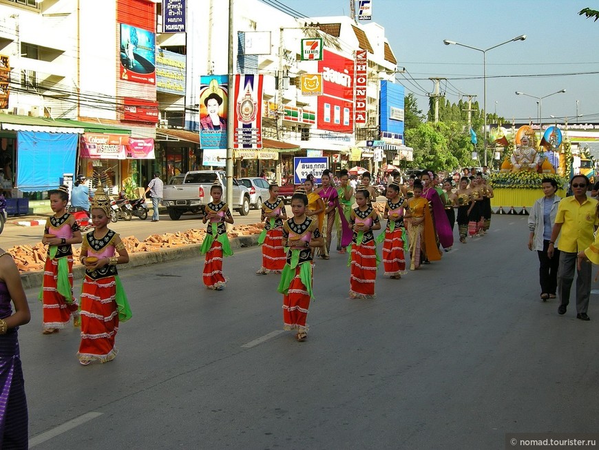
M 43 269 L 42 289 L 39 300 L 43 303 L 43 334 L 58 333 L 68 325 L 78 326 L 77 301 L 73 296 L 73 249 L 72 244 L 81 243 L 81 231 L 75 218 L 67 213 L 69 188 L 62 185 L 50 191 L 50 207 L 54 216 L 45 223 L 42 243 L 48 245 L 48 257 Z

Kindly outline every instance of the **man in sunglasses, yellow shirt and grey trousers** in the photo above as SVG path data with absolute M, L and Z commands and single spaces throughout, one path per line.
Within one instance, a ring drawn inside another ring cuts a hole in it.
M 587 196 L 589 178 L 585 175 L 574 175 L 570 187 L 574 196 L 563 198 L 558 205 L 558 213 L 554 228 L 549 240 L 547 256 L 554 256 L 554 243 L 560 238 L 560 267 L 558 269 L 558 294 L 560 296 L 559 314 L 566 314 L 570 301 L 570 289 L 576 278 L 576 318 L 590 320 L 587 315 L 589 298 L 591 296 L 591 265 L 582 264 L 576 267 L 578 252 L 586 249 L 593 243 L 593 233 L 599 218 L 597 216 L 597 201 Z

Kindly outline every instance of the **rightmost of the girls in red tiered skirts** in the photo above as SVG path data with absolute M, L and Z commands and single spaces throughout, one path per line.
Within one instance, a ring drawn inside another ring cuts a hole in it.
M 406 273 L 406 228 L 403 225 L 403 205 L 406 198 L 399 193 L 401 187 L 392 181 L 387 187 L 387 203 L 383 219 L 387 219 L 387 227 L 384 233 L 379 234 L 383 238 L 383 267 L 385 275 L 390 278 L 399 279 L 401 274 Z

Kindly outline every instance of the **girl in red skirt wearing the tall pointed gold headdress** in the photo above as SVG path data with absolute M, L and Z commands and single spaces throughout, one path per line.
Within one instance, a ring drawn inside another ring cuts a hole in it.
M 85 278 L 81 292 L 81 344 L 77 358 L 82 365 L 114 360 L 118 324 L 129 320 L 132 315 L 116 271 L 117 264 L 129 262 L 129 254 L 120 236 L 107 227 L 110 214 L 110 199 L 102 187 L 98 187 L 92 201 L 94 231 L 85 235 L 81 245 Z

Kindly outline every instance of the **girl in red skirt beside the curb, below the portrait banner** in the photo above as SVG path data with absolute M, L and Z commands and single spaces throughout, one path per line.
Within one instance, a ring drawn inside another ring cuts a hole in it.
M 208 289 L 222 291 L 227 283 L 222 274 L 222 258 L 233 254 L 227 237 L 227 225 L 224 224 L 233 223 L 233 216 L 227 203 L 220 199 L 222 186 L 218 181 L 210 188 L 210 195 L 212 201 L 206 205 L 202 218 L 203 223 L 210 223 L 200 249 L 201 254 L 206 255 L 203 280 Z

